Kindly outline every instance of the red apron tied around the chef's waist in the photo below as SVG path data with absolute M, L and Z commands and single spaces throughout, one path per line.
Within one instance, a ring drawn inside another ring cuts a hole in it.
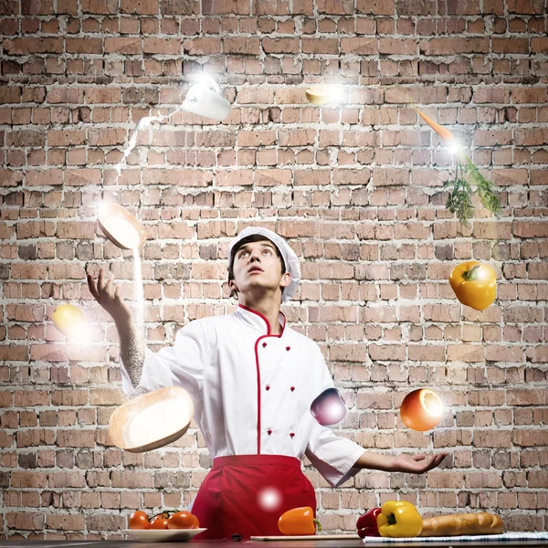
M 298 506 L 316 513 L 316 493 L 300 460 L 281 455 L 218 457 L 195 498 L 192 513 L 207 531 L 196 541 L 240 534 L 279 535 L 278 518 Z

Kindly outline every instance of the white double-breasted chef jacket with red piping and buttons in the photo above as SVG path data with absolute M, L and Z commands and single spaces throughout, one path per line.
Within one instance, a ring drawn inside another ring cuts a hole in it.
M 333 386 L 318 345 L 286 325 L 270 333 L 269 321 L 239 305 L 237 311 L 190 321 L 173 346 L 146 349 L 139 388 L 183 386 L 213 458 L 228 455 L 303 454 L 332 487 L 360 469 L 364 448 L 337 437 L 311 415 L 311 402 Z M 121 362 L 122 389 L 133 395 Z

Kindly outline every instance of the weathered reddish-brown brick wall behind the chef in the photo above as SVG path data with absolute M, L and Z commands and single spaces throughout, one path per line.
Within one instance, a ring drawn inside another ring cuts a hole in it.
M 227 241 L 248 223 L 303 261 L 290 321 L 321 345 L 364 448 L 447 448 L 426 476 L 362 472 L 331 490 L 311 468 L 328 532 L 399 496 L 424 513 L 497 511 L 510 530 L 548 518 L 548 38 L 543 0 L 5 0 L 0 35 L 0 533 L 120 537 L 126 516 L 187 504 L 210 459 L 192 429 L 150 454 L 111 446 L 124 401 L 116 333 L 84 269 L 110 265 L 132 296 L 132 258 L 95 224 L 102 197 L 148 231 L 152 347 L 184 322 L 231 311 Z M 203 70 L 233 103 L 222 125 L 178 113 Z M 304 89 L 341 82 L 343 108 Z M 447 149 L 411 103 L 447 125 L 501 191 L 498 220 L 448 214 Z M 113 196 L 114 195 L 114 196 Z M 498 298 L 459 305 L 461 260 L 495 267 Z M 60 302 L 93 332 L 68 344 Z M 425 435 L 398 408 L 417 386 L 448 405 Z

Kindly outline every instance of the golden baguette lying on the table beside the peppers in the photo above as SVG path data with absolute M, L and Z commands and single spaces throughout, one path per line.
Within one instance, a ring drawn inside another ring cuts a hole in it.
M 460 534 L 500 534 L 504 523 L 499 516 L 486 511 L 469 514 L 436 516 L 423 520 L 419 536 L 456 536 Z

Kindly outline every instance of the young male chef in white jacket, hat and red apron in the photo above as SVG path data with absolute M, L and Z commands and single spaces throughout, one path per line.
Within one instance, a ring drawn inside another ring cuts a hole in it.
M 279 311 L 300 281 L 294 251 L 274 232 L 248 227 L 229 243 L 231 314 L 188 322 L 173 346 L 144 348 L 132 311 L 112 277 L 100 270 L 90 291 L 116 323 L 122 388 L 127 395 L 183 386 L 213 457 L 191 511 L 207 531 L 196 538 L 279 534 L 278 518 L 298 506 L 316 508 L 304 455 L 332 487 L 360 469 L 422 473 L 437 455 L 380 455 L 336 436 L 311 415 L 311 402 L 332 388 L 318 345 L 287 324 Z

